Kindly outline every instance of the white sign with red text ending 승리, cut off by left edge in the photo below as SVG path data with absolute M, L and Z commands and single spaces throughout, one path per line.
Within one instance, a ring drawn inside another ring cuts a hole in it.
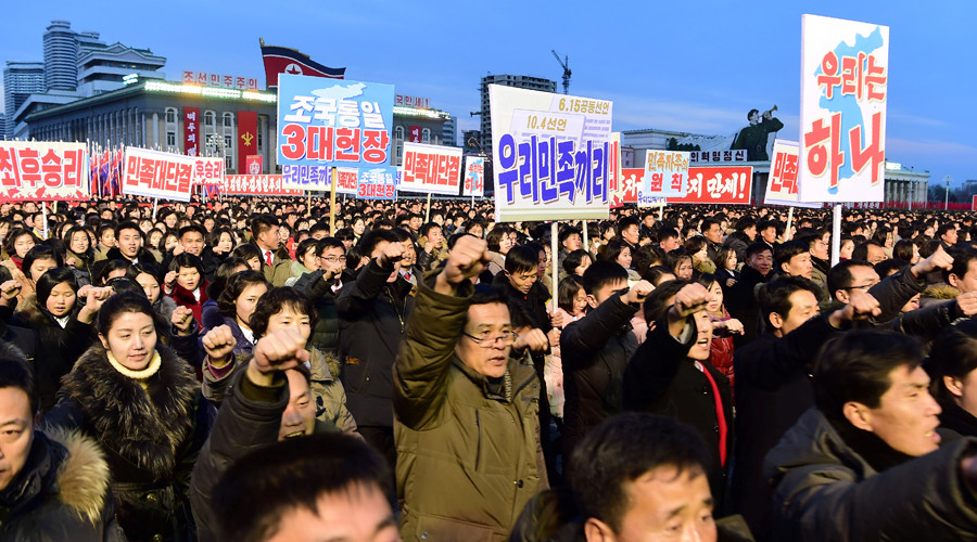
M 88 199 L 84 143 L 0 141 L 0 201 Z

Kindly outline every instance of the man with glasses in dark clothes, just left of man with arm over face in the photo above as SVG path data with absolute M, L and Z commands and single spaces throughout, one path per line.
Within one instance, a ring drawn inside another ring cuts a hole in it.
M 308 340 L 326 356 L 330 373 L 339 377 L 342 366 L 337 357 L 339 314 L 335 310 L 335 296 L 343 286 L 340 278 L 346 267 L 343 242 L 335 237 L 325 237 L 316 243 L 316 263 L 319 269 L 299 278 L 295 289 L 312 300 L 319 314 Z

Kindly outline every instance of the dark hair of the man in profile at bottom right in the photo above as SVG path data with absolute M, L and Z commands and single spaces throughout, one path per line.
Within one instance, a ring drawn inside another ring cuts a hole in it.
M 814 403 L 828 418 L 843 420 L 845 403 L 870 409 L 880 404 L 892 385 L 889 373 L 915 369 L 923 347 L 915 338 L 881 330 L 854 330 L 829 340 L 814 362 Z

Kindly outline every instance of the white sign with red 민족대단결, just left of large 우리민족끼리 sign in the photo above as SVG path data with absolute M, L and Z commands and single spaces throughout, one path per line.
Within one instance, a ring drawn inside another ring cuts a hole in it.
M 401 171 L 401 192 L 456 196 L 461 184 L 461 149 L 405 142 Z

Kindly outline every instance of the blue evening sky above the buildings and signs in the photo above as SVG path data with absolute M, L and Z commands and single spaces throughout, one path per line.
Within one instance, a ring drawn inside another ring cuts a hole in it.
M 7 2 L 0 60 L 42 60 L 53 18 L 107 42 L 150 48 L 183 69 L 258 77 L 258 37 L 291 47 L 346 77 L 390 82 L 397 93 L 475 127 L 479 79 L 547 77 L 570 56 L 570 93 L 614 101 L 614 128 L 732 134 L 750 108 L 774 104 L 797 140 L 801 14 L 890 27 L 887 158 L 977 179 L 972 98 L 977 2 Z M 559 87 L 560 90 L 562 87 Z

